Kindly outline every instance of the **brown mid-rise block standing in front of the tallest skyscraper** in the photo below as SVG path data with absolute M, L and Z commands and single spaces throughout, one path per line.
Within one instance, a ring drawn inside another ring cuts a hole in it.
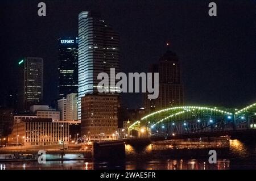
M 95 141 L 117 138 L 117 108 L 117 95 L 85 95 L 81 102 L 81 135 Z

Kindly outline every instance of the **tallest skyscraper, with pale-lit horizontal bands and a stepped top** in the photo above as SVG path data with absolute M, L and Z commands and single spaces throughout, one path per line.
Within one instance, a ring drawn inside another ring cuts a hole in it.
M 119 35 L 100 15 L 82 11 L 79 14 L 79 120 L 82 97 L 98 92 L 101 80 L 97 76 L 102 72 L 110 75 L 110 68 L 119 72 Z

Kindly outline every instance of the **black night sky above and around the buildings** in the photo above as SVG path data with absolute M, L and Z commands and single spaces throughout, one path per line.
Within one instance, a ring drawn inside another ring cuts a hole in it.
M 38 16 L 45 2 L 47 16 Z M 217 17 L 208 3 L 217 3 Z M 242 107 L 256 102 L 255 1 L 14 1 L 1 0 L 0 104 L 16 87 L 18 60 L 44 58 L 44 99 L 57 98 L 58 41 L 77 36 L 78 14 L 96 10 L 119 32 L 121 68 L 147 71 L 166 52 L 166 42 L 182 67 L 185 104 Z M 124 94 L 130 108 L 141 94 Z

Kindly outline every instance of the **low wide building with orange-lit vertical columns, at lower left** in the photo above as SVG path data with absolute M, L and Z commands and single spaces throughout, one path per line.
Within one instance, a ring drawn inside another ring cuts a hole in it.
M 46 118 L 21 120 L 8 136 L 8 143 L 14 145 L 57 145 L 60 141 L 69 141 L 69 123 Z

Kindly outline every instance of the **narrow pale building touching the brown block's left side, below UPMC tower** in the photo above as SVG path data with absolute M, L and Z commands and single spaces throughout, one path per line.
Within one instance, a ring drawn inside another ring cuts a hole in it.
M 68 121 L 77 121 L 77 93 L 67 95 L 67 113 Z

